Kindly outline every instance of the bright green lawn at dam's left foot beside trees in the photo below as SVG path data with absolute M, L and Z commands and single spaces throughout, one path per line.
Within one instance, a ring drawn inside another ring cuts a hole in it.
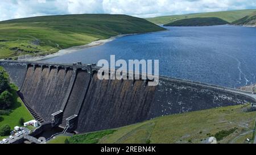
M 3 70 L 0 67 L 0 70 Z M 15 87 L 12 85 L 12 87 Z M 16 125 L 19 125 L 19 119 L 22 117 L 24 118 L 25 122 L 34 119 L 30 112 L 28 112 L 27 108 L 22 103 L 22 100 L 18 97 L 15 91 L 12 92 L 14 95 L 14 105 L 11 107 L 11 112 L 9 115 L 0 115 L 0 127 L 1 125 L 9 124 L 11 129 L 14 129 Z M 3 137 L 0 136 L 0 140 Z

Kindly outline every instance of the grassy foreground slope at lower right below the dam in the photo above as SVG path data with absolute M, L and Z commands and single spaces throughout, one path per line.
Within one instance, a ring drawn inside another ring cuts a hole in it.
M 256 111 L 249 104 L 169 115 L 114 130 L 68 137 L 69 143 L 253 143 Z M 64 143 L 57 137 L 50 143 Z M 66 140 L 67 142 L 67 140 Z

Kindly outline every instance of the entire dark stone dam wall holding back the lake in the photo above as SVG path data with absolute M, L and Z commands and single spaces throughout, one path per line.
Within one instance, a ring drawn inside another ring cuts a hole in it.
M 100 80 L 92 65 L 0 61 L 19 96 L 41 123 L 77 133 L 143 122 L 158 116 L 255 103 L 256 94 L 182 79 Z

